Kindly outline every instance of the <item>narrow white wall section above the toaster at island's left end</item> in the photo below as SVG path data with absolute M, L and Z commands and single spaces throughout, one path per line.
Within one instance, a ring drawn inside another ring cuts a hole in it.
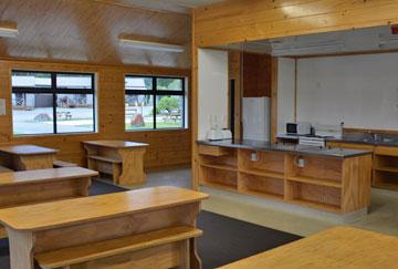
M 228 53 L 200 49 L 198 52 L 198 139 L 210 130 L 210 116 L 219 125 L 228 116 Z M 224 127 L 224 126 L 222 126 Z

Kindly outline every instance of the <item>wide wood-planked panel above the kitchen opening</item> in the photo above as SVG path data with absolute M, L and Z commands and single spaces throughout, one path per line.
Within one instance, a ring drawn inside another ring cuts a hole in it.
M 398 23 L 397 0 L 230 0 L 195 10 L 199 46 Z

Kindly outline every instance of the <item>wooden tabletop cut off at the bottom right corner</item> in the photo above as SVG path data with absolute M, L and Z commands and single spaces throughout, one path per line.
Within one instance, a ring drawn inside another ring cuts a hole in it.
M 337 227 L 221 268 L 392 269 L 398 268 L 398 238 Z

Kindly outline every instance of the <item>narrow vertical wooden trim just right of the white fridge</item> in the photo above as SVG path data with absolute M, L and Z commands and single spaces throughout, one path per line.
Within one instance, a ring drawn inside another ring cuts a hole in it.
M 271 59 L 271 142 L 277 135 L 277 58 Z

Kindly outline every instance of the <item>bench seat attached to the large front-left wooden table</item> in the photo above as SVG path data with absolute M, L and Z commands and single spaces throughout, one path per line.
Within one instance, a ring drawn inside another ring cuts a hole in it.
M 201 235 L 202 231 L 193 227 L 171 227 L 117 239 L 38 254 L 34 256 L 34 259 L 40 268 L 43 269 L 63 268 L 101 258 L 178 242 L 196 238 Z M 156 259 L 156 256 L 153 258 Z

